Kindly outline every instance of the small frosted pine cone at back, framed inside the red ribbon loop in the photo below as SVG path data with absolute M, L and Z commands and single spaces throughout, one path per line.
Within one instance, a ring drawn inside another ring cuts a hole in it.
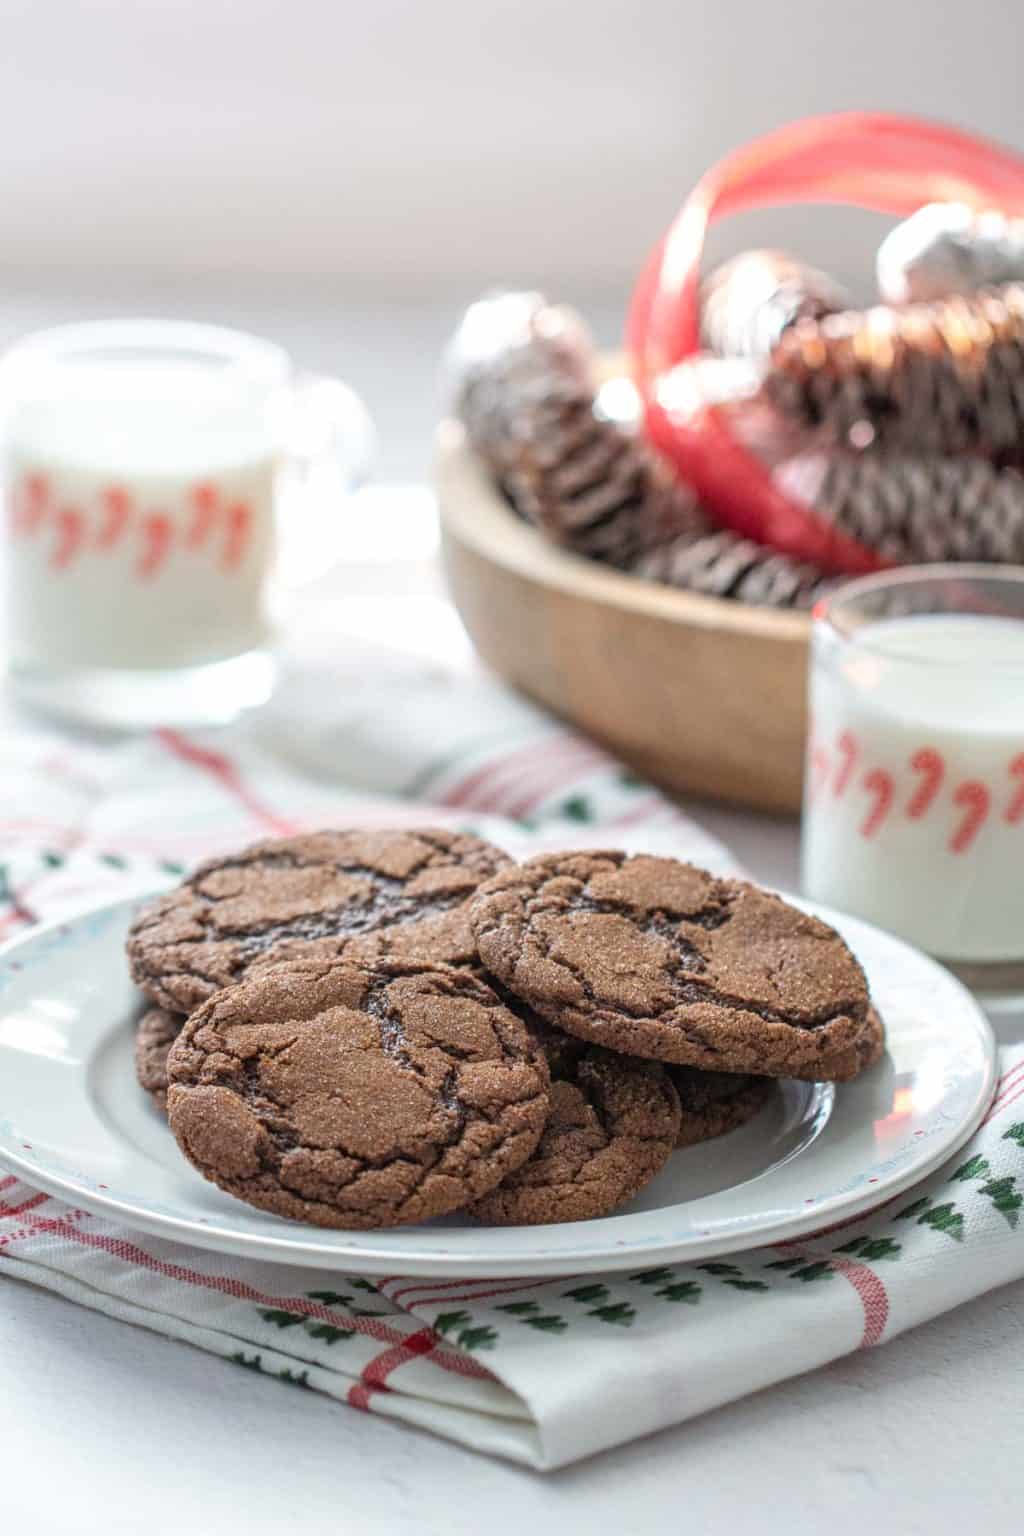
M 798 319 L 821 319 L 849 298 L 831 276 L 785 250 L 745 250 L 700 286 L 700 335 L 722 358 L 766 362 Z

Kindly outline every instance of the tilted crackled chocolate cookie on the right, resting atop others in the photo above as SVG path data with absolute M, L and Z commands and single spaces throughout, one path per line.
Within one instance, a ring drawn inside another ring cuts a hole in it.
M 613 1051 L 841 1081 L 877 1041 L 843 938 L 743 880 L 646 854 L 540 854 L 488 880 L 470 914 L 488 971 Z

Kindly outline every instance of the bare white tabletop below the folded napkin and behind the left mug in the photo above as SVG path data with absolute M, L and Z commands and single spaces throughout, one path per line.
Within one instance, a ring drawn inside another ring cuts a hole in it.
M 597 309 L 614 335 L 613 307 Z M 0 344 L 29 326 L 118 310 L 244 324 L 306 364 L 342 369 L 382 427 L 384 473 L 424 472 L 451 296 L 355 303 L 223 286 L 69 296 L 23 284 L 0 301 Z M 794 823 L 692 809 L 757 877 L 795 885 Z M 1024 1021 L 1001 1028 L 1010 1037 Z M 0 1272 L 0 1531 L 628 1536 L 735 1521 L 785 1536 L 961 1536 L 967 1521 L 1009 1530 L 1022 1349 L 1024 1283 L 884 1349 L 540 1476 L 289 1392 Z

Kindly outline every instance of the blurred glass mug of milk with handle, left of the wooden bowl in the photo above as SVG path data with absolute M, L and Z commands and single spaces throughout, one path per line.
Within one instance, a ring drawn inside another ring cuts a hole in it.
M 26 338 L 0 361 L 15 691 L 127 728 L 263 702 L 289 470 L 330 461 L 344 493 L 367 442 L 345 386 L 256 336 L 123 319 Z

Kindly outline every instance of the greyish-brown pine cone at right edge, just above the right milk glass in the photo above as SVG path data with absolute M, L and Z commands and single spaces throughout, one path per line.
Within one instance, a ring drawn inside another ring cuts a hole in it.
M 804 455 L 775 479 L 894 564 L 1024 564 L 1024 475 L 984 459 Z

